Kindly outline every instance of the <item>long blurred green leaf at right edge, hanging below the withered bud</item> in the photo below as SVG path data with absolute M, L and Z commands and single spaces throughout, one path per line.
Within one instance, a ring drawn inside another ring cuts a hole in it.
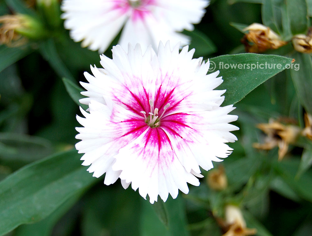
M 300 66 L 297 69 L 290 69 L 290 75 L 294 82 L 297 95 L 299 97 L 300 103 L 312 114 L 312 59 L 309 54 L 298 53 L 292 54 L 295 63 Z

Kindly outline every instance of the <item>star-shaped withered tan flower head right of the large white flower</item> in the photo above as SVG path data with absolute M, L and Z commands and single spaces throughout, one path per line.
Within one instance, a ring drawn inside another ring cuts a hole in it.
M 253 147 L 262 150 L 270 150 L 278 146 L 278 160 L 282 160 L 287 153 L 289 144 L 295 143 L 300 128 L 296 125 L 284 125 L 279 121 L 270 119 L 269 123 L 261 123 L 257 128 L 262 130 L 267 136 L 264 144 L 254 143 Z

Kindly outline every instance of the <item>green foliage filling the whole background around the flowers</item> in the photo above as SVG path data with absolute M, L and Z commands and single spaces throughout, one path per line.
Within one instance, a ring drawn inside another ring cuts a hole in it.
M 189 194 L 151 205 L 132 189 L 105 186 L 103 177 L 92 177 L 74 149 L 83 97 L 79 81 L 85 81 L 90 64 L 99 64 L 99 54 L 74 43 L 51 12 L 22 0 L 0 2 L 1 15 L 28 14 L 48 31 L 19 47 L 0 45 L 0 235 L 217 236 L 222 234 L 217 219 L 227 204 L 240 206 L 258 236 L 310 235 L 311 140 L 289 143 L 282 161 L 277 147 L 259 151 L 253 143 L 264 142 L 256 125 L 270 119 L 301 130 L 312 126 L 304 122 L 305 112 L 312 113 L 311 54 L 295 51 L 291 42 L 263 54 L 245 53 L 240 40 L 254 22 L 285 41 L 307 34 L 311 6 L 311 0 L 215 0 L 195 31 L 184 32 L 195 55 L 209 58 L 211 72 L 220 71 L 223 105 L 237 107 L 232 114 L 239 116 L 238 141 L 230 144 L 234 151 L 227 159 L 215 163 L 224 167 L 226 189 L 209 188 L 210 171 L 203 171 L 200 186 L 189 186 Z M 110 57 L 110 50 L 105 55 Z M 281 66 L 259 68 L 266 63 Z

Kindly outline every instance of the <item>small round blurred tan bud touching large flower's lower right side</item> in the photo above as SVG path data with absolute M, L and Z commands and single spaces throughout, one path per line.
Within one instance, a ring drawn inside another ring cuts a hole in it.
M 222 165 L 208 172 L 207 183 L 213 190 L 221 191 L 227 188 L 227 176 Z

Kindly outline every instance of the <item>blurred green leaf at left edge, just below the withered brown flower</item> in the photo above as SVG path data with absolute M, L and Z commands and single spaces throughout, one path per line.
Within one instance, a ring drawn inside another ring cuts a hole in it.
M 18 48 L 9 48 L 5 45 L 0 45 L 0 72 L 31 52 L 32 49 L 29 45 L 23 45 Z

